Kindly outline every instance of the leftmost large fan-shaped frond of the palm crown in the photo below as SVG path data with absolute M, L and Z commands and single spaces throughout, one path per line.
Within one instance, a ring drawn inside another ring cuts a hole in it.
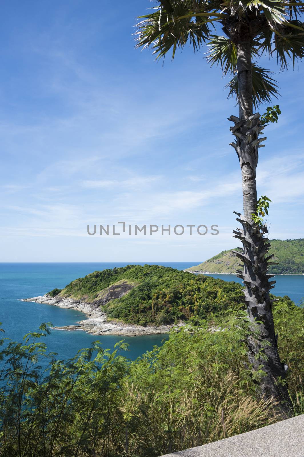
M 153 13 L 141 16 L 137 24 L 136 47 L 151 47 L 156 58 L 165 56 L 172 48 L 172 59 L 176 48 L 182 48 L 188 41 L 194 51 L 210 37 L 213 22 L 224 15 L 219 8 L 210 10 L 208 0 L 159 0 Z

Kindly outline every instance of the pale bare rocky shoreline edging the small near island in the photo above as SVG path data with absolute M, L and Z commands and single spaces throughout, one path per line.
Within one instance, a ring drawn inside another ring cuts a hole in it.
M 64 327 L 53 327 L 56 330 L 84 330 L 92 335 L 155 335 L 168 333 L 175 325 L 160 325 L 159 327 L 142 326 L 136 324 L 124 324 L 123 322 L 112 322 L 107 319 L 104 313 L 96 303 L 88 303 L 85 300 L 75 300 L 57 295 L 50 297 L 48 294 L 39 297 L 26 298 L 25 302 L 36 302 L 59 306 L 60 308 L 75 309 L 81 311 L 87 316 L 87 319 L 80 320 L 75 325 L 66 325 Z M 179 324 L 179 326 L 182 324 Z

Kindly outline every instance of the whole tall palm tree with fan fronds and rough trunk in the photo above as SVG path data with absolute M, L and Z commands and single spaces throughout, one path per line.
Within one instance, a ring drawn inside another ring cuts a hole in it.
M 248 356 L 254 378 L 259 379 L 260 392 L 277 400 L 277 411 L 291 415 L 290 402 L 284 384 L 287 366 L 280 361 L 277 335 L 272 317 L 269 291 L 275 281 L 267 274 L 271 256 L 266 225 L 256 214 L 256 166 L 258 149 L 263 144 L 260 134 L 265 127 L 253 108 L 269 103 L 277 96 L 276 81 L 271 72 L 254 60 L 263 54 L 277 58 L 281 70 L 293 68 L 295 60 L 304 57 L 304 24 L 300 20 L 304 3 L 298 0 L 155 0 L 152 12 L 140 16 L 137 24 L 136 46 L 151 47 L 156 58 L 165 57 L 170 50 L 172 59 L 176 48 L 186 43 L 194 52 L 208 45 L 211 65 L 220 65 L 224 75 L 233 75 L 227 87 L 235 96 L 239 117 L 231 116 L 230 130 L 235 142 L 230 143 L 240 160 L 243 182 L 244 215 L 236 213 L 242 229 L 234 231 L 243 244 L 243 253 L 235 253 L 242 260 L 237 274 L 244 281 L 245 303 L 252 329 L 248 337 Z M 224 36 L 217 32 L 222 28 Z M 269 203 L 260 201 L 264 207 Z M 258 336 L 257 336 L 258 335 Z M 261 373 L 263 376 L 256 376 Z M 281 382 L 283 381 L 283 382 Z

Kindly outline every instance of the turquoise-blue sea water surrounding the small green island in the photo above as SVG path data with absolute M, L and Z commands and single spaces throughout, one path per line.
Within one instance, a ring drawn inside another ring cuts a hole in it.
M 150 263 L 150 262 L 144 262 Z M 140 265 L 144 265 L 140 263 Z M 157 262 L 153 262 L 154 264 Z M 193 262 L 161 262 L 160 265 L 183 270 Z M 126 266 L 125 263 L 2 263 L 0 264 L 0 322 L 5 330 L 5 337 L 21 341 L 30 330 L 37 330 L 42 322 L 51 322 L 63 326 L 75 324 L 85 319 L 85 315 L 74 310 L 58 308 L 39 303 L 22 302 L 21 299 L 43 295 L 55 287 L 63 288 L 76 278 L 95 270 L 104 270 L 114 266 Z M 152 264 L 151 264 L 152 265 Z M 240 280 L 235 275 L 210 275 L 224 281 Z M 276 276 L 277 285 L 273 289 L 276 295 L 288 295 L 299 304 L 304 297 L 304 276 Z M 146 335 L 123 337 L 117 335 L 89 335 L 83 331 L 53 330 L 47 337 L 48 351 L 57 352 L 59 358 L 69 358 L 93 341 L 100 340 L 103 347 L 113 349 L 115 343 L 124 339 L 129 343 L 128 357 L 135 359 L 153 345 L 160 345 L 166 335 Z

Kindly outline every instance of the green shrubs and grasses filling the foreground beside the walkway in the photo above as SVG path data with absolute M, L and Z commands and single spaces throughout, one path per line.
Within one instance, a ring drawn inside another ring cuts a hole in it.
M 273 314 L 294 414 L 303 414 L 304 311 L 281 299 Z M 153 457 L 272 423 L 279 418 L 246 365 L 249 332 L 245 313 L 228 309 L 192 319 L 136 361 L 123 342 L 112 354 L 96 342 L 59 361 L 41 341 L 46 324 L 23 343 L 3 339 L 0 456 Z

